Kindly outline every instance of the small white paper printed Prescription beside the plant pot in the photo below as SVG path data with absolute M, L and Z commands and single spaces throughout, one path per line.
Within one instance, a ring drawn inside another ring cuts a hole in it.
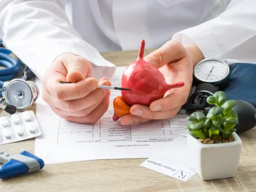
M 190 161 L 186 137 L 183 136 L 168 143 L 141 166 L 185 182 L 196 173 Z

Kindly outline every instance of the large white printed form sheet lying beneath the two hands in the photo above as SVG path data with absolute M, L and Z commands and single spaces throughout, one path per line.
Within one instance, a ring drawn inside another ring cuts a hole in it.
M 120 86 L 124 67 L 118 67 L 111 79 Z M 37 81 L 40 86 L 40 81 Z M 121 95 L 111 90 L 109 109 L 96 124 L 76 124 L 54 114 L 42 98 L 38 99 L 36 117 L 42 136 L 36 138 L 35 154 L 46 164 L 95 159 L 147 158 L 186 135 L 188 124 L 184 111 L 170 120 L 155 120 L 141 125 L 122 126 L 113 122 L 113 99 Z

